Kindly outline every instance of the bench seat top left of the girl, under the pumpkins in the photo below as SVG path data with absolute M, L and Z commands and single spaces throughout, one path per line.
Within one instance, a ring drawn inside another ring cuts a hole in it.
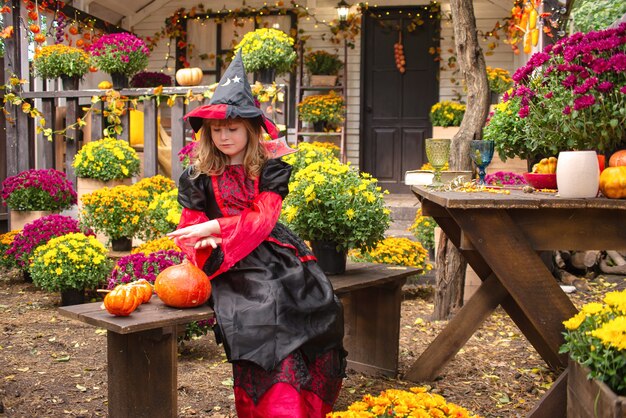
M 105 328 L 118 334 L 130 334 L 156 328 L 202 321 L 213 317 L 213 310 L 208 305 L 197 308 L 177 309 L 165 306 L 156 296 L 148 303 L 139 306 L 130 316 L 113 316 L 101 309 L 101 302 L 59 308 L 63 316 Z

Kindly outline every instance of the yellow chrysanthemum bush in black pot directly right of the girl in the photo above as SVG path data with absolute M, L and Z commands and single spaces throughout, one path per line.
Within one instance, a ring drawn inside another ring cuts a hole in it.
M 281 219 L 311 242 L 327 273 L 341 274 L 347 250 L 367 251 L 384 238 L 391 217 L 383 195 L 369 174 L 336 159 L 318 161 L 292 176 Z M 343 263 L 324 264 L 326 250 L 341 255 Z

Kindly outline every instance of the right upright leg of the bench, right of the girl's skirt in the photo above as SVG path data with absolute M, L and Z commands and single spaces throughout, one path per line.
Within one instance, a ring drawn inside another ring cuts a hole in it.
M 406 278 L 381 286 L 339 294 L 344 310 L 344 346 L 348 367 L 363 373 L 395 377 L 402 286 Z

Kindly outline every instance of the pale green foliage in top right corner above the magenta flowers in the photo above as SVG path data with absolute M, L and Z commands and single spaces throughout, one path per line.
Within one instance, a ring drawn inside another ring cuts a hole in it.
M 626 13 L 623 0 L 577 0 L 572 9 L 576 30 L 591 32 L 606 29 Z

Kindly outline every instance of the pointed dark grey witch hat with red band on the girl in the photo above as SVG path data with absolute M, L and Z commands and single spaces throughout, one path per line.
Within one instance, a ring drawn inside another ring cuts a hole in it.
M 208 105 L 200 106 L 187 113 L 183 119 L 188 120 L 194 132 L 202 128 L 203 119 L 227 118 L 260 118 L 261 126 L 272 138 L 277 138 L 279 130 L 274 123 L 265 117 L 257 107 L 252 95 L 250 83 L 241 59 L 241 50 L 230 63 L 222 79 L 217 85 Z

